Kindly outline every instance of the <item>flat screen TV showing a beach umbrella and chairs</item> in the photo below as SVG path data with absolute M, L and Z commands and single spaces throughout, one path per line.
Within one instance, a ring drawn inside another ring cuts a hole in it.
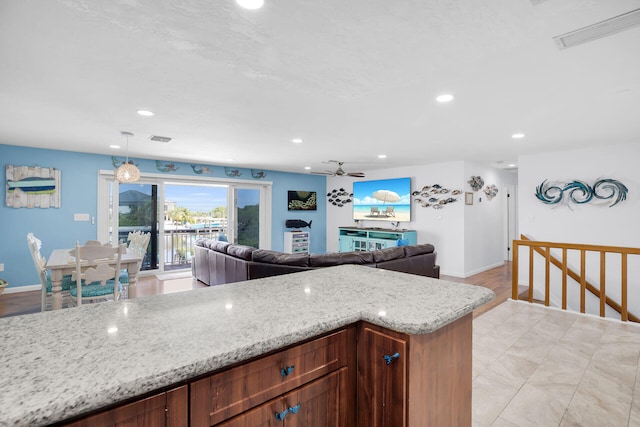
M 411 178 L 355 181 L 353 219 L 411 221 Z

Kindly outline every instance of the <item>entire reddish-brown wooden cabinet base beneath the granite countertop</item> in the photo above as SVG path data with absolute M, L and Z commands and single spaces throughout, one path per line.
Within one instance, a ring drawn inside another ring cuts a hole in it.
M 358 322 L 64 425 L 467 427 L 471 326 L 471 313 L 417 335 Z

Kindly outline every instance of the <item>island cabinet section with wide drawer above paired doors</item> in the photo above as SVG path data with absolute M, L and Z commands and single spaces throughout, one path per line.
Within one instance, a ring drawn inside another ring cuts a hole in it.
M 355 376 L 349 380 L 349 375 L 355 375 L 354 366 L 355 328 L 350 327 L 213 374 L 190 385 L 190 425 L 268 426 L 274 421 L 281 425 L 282 421 L 275 418 L 276 412 L 284 412 L 283 418 L 293 420 L 296 418 L 293 415 L 300 419 L 309 411 L 317 411 L 317 407 L 322 406 L 318 403 L 322 398 L 312 399 L 311 395 L 325 396 L 324 406 L 334 409 L 331 399 L 355 400 Z M 320 379 L 322 381 L 316 381 Z M 321 390 L 323 387 L 326 390 Z M 313 401 L 313 404 L 305 401 Z M 297 414 L 289 411 L 289 408 L 295 411 L 299 403 Z M 334 413 L 342 423 L 335 425 L 355 424 L 355 411 L 351 415 L 344 405 Z M 238 415 L 243 421 L 231 420 Z

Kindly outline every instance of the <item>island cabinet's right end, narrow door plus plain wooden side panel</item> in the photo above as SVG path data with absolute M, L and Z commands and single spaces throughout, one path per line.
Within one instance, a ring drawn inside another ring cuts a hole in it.
M 361 323 L 358 426 L 471 426 L 471 325 L 468 314 L 407 335 Z

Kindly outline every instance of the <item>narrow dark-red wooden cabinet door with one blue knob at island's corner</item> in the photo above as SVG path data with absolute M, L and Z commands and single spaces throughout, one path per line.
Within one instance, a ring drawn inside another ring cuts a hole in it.
M 361 326 L 358 337 L 359 426 L 406 426 L 407 347 L 406 338 L 366 324 Z

